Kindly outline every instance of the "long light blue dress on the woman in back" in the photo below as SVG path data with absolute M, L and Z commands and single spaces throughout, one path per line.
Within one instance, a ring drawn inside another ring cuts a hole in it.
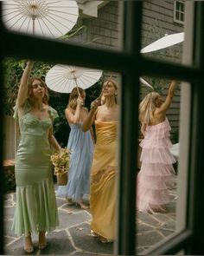
M 93 142 L 90 130 L 83 132 L 82 123 L 71 124 L 67 148 L 70 150 L 68 182 L 59 186 L 57 195 L 80 202 L 90 192 Z

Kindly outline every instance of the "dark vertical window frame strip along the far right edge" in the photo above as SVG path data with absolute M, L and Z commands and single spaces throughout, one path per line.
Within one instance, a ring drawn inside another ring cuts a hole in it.
M 204 72 L 204 3 L 197 1 L 195 4 L 195 27 L 194 27 L 194 65 Z M 191 152 L 192 161 L 190 162 L 190 172 L 194 177 L 189 189 L 189 214 L 188 226 L 193 229 L 194 236 L 188 254 L 204 254 L 203 229 L 204 229 L 204 84 L 203 76 L 199 82 L 192 84 L 193 109 L 192 109 L 192 137 Z M 191 180 L 190 180 L 191 181 Z M 193 208 L 193 210 L 192 210 Z M 190 211 L 191 210 L 191 211 Z

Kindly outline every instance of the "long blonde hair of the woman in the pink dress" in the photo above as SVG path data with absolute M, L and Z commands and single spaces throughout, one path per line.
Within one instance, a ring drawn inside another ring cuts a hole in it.
M 143 98 L 139 104 L 139 121 L 151 124 L 154 123 L 154 112 L 156 110 L 156 99 L 160 95 L 156 92 L 151 92 Z

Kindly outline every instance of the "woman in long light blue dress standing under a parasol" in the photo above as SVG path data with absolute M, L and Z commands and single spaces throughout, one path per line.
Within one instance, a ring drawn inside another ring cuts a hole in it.
M 90 169 L 92 166 L 93 135 L 92 130 L 83 132 L 82 123 L 88 115 L 84 108 L 86 93 L 84 89 L 74 88 L 65 109 L 67 122 L 71 128 L 67 148 L 70 150 L 68 182 L 59 186 L 57 194 L 67 198 L 69 204 L 76 202 L 81 208 L 88 206 L 84 199 L 90 190 Z

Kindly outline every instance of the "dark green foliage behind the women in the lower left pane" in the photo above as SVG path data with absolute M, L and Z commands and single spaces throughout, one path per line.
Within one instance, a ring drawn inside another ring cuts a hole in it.
M 16 104 L 18 85 L 25 65 L 25 60 L 16 60 L 12 58 L 6 59 L 4 62 L 4 115 L 13 115 L 13 107 Z M 51 67 L 52 65 L 45 62 L 35 62 L 32 69 L 32 75 L 40 76 L 44 79 Z M 86 89 L 85 105 L 87 108 L 89 108 L 91 102 L 99 96 L 101 88 L 102 80 L 99 80 L 99 82 L 95 83 L 91 88 Z M 48 90 L 49 105 L 56 109 L 59 115 L 59 118 L 54 121 L 54 135 L 57 141 L 61 144 L 61 147 L 66 147 L 70 128 L 67 124 L 64 113 L 65 108 L 67 108 L 69 95 L 56 93 L 50 89 Z

